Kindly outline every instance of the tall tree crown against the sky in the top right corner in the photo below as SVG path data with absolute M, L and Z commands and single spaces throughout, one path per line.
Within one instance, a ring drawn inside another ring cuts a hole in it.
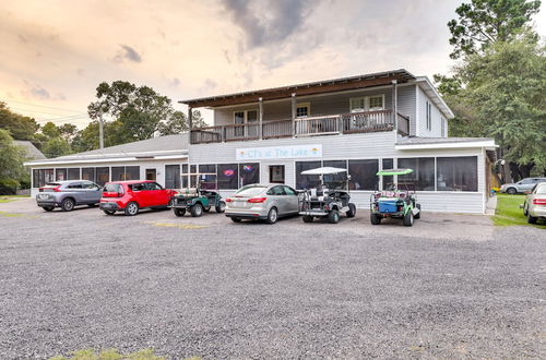
M 454 47 L 450 57 L 484 51 L 497 41 L 509 41 L 541 8 L 539 0 L 472 0 L 456 8 L 458 20 L 448 23 Z

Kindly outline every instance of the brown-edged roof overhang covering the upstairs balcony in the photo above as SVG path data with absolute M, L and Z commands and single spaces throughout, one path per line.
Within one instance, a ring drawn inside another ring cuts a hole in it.
M 202 97 L 181 100 L 179 103 L 186 104 L 192 108 L 240 105 L 246 103 L 256 103 L 258 101 L 259 97 L 263 98 L 263 100 L 273 100 L 290 97 L 294 93 L 296 94 L 296 96 L 304 96 L 389 85 L 393 80 L 396 80 L 399 83 L 405 83 L 410 80 L 415 80 L 415 76 L 406 70 L 400 69 L 358 76 L 340 77 L 320 82 L 265 88 L 252 92 Z

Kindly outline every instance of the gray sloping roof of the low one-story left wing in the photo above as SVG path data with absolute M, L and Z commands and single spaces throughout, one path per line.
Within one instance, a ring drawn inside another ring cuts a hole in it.
M 105 163 L 138 159 L 180 157 L 188 154 L 188 133 L 153 137 L 102 149 L 71 154 L 50 159 L 25 163 L 25 165 Z

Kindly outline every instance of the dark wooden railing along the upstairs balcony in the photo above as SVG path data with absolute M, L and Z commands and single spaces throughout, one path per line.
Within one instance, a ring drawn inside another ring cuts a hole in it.
M 396 113 L 399 133 L 410 134 L 410 118 Z M 351 112 L 324 117 L 309 117 L 293 120 L 264 121 L 209 127 L 191 131 L 192 144 L 221 143 L 259 139 L 352 134 L 394 130 L 392 110 Z

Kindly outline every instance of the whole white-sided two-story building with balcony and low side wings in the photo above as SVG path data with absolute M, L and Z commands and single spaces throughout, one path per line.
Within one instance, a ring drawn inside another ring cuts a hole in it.
M 76 177 L 100 183 L 155 179 L 168 188 L 195 184 L 223 195 L 248 183 L 305 189 L 301 171 L 346 168 L 360 208 L 388 182 L 413 180 L 424 211 L 485 213 L 492 139 L 449 137 L 452 111 L 427 77 L 405 70 L 180 101 L 214 111 L 214 123 L 187 134 L 28 163 L 33 193 L 47 180 Z M 396 178 L 385 168 L 412 168 Z M 72 170 L 71 170 L 72 169 Z M 72 171 L 72 172 L 71 172 Z M 120 172 L 121 171 L 121 172 Z

